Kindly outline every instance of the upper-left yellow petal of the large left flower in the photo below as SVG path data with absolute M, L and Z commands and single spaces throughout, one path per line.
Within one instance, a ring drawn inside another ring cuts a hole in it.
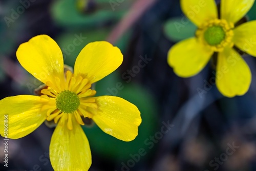
M 48 35 L 38 35 L 20 45 L 16 52 L 19 63 L 41 82 L 55 82 L 63 77 L 63 57 L 57 43 Z

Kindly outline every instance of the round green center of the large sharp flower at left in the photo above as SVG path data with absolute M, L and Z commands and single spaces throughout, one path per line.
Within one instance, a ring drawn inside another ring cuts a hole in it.
M 57 108 L 64 113 L 73 113 L 78 109 L 80 100 L 75 92 L 68 90 L 60 92 L 56 97 Z

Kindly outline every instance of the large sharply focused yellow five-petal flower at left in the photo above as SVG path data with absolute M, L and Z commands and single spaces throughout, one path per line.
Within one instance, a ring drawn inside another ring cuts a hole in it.
M 63 57 L 56 42 L 38 35 L 20 45 L 20 64 L 48 88 L 39 96 L 19 95 L 0 101 L 1 120 L 8 115 L 8 138 L 17 139 L 33 132 L 45 120 L 54 120 L 56 129 L 50 143 L 50 160 L 54 170 L 88 170 L 91 150 L 80 125 L 88 117 L 106 134 L 123 141 L 138 135 L 141 123 L 137 107 L 113 96 L 92 97 L 91 84 L 115 71 L 123 55 L 109 42 L 88 44 L 78 55 L 74 73 L 63 71 Z M 4 125 L 4 123 L 2 124 Z M 4 127 L 0 134 L 4 136 Z

